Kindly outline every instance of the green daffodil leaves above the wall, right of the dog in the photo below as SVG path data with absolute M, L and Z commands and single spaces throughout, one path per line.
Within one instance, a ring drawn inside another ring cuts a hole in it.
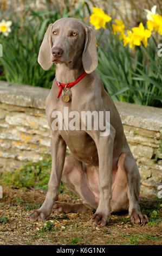
M 133 56 L 118 36 L 109 33 L 106 46 L 98 47 L 96 71 L 113 100 L 148 106 L 162 103 L 162 58 L 157 50 L 152 37 L 147 48 L 137 47 Z

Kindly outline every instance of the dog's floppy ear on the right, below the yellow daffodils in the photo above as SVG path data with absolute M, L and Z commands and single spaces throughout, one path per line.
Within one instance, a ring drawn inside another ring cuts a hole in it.
M 98 66 L 98 54 L 96 51 L 96 38 L 91 27 L 85 25 L 85 48 L 82 54 L 83 68 L 86 73 L 92 73 Z

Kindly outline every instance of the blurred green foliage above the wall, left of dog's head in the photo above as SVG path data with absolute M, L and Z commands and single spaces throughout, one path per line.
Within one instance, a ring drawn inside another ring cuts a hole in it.
M 45 25 L 47 23 L 48 19 L 42 23 L 31 19 L 21 27 L 19 21 L 7 38 L 1 35 L 0 43 L 3 46 L 1 63 L 7 81 L 51 87 L 55 66 L 51 70 L 45 71 L 37 62 L 39 47 L 46 32 Z

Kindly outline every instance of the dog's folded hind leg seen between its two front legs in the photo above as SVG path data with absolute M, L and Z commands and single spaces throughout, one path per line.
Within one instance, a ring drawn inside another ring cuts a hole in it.
M 95 172 L 95 167 L 93 173 Z M 93 174 L 92 174 L 93 175 Z M 94 176 L 96 174 L 94 173 Z M 87 177 L 87 164 L 77 160 L 75 156 L 67 156 L 64 162 L 62 182 L 71 191 L 82 199 L 82 204 L 68 204 L 55 202 L 53 212 L 81 212 L 93 211 L 98 206 L 99 194 L 89 185 Z

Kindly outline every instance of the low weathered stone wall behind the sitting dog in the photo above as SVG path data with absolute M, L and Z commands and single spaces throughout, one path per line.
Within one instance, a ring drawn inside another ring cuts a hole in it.
M 49 89 L 0 81 L 0 171 L 12 171 L 50 154 L 45 113 Z M 159 152 L 162 109 L 115 102 L 125 134 L 138 163 L 141 193 L 156 194 L 161 184 Z

